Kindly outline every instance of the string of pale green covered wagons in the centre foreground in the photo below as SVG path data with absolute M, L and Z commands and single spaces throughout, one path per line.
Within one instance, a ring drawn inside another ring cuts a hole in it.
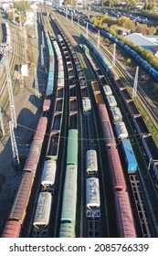
M 60 238 L 74 238 L 76 236 L 77 211 L 77 177 L 78 177 L 78 130 L 68 131 L 68 150 L 66 162 L 66 176 L 63 190 L 63 202 L 60 218 Z

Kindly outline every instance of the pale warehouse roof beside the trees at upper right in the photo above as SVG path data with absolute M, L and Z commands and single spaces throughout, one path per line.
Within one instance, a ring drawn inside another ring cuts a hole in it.
M 131 40 L 136 46 L 141 46 L 142 48 L 151 48 L 158 45 L 154 43 L 149 37 L 142 36 L 142 33 L 133 33 L 126 36 L 126 38 Z

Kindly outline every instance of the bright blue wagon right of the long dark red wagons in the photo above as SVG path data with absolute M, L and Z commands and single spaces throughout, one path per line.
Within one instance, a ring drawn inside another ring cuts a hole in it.
M 131 141 L 129 139 L 123 139 L 121 143 L 126 159 L 127 171 L 128 173 L 135 173 L 138 169 L 138 164 L 132 149 Z

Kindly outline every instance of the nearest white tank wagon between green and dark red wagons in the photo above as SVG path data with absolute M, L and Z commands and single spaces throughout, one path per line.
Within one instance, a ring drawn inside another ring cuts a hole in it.
M 100 218 L 100 184 L 97 177 L 87 178 L 86 206 L 86 216 L 88 218 Z

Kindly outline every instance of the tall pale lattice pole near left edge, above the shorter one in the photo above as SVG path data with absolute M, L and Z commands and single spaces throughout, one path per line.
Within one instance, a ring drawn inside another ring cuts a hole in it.
M 5 50 L 5 70 L 6 70 L 6 80 L 7 80 L 7 87 L 8 87 L 8 94 L 9 94 L 9 103 L 10 103 L 10 113 L 11 113 L 11 121 L 14 124 L 14 127 L 17 127 L 16 123 L 16 109 L 15 109 L 15 101 L 14 101 L 14 94 L 12 88 L 12 80 L 10 76 L 10 67 L 8 62 L 8 51 Z

